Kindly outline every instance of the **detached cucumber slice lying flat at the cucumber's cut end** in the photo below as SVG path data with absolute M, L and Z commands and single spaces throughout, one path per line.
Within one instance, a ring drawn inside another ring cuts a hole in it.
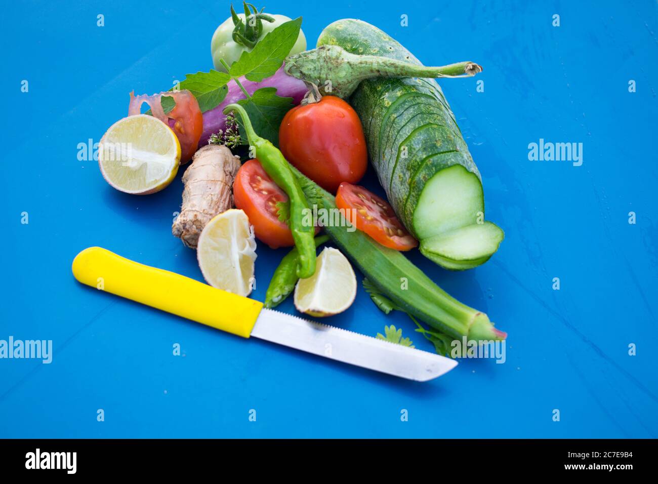
M 472 224 L 424 238 L 420 252 L 446 269 L 463 271 L 485 263 L 504 237 L 494 223 Z

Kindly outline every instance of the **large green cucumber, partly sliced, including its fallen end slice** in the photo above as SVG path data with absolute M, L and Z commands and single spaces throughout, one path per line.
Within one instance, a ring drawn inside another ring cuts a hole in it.
M 327 26 L 320 45 L 420 64 L 393 38 L 351 18 Z M 420 240 L 422 254 L 454 270 L 486 262 L 503 231 L 484 224 L 480 173 L 436 81 L 364 80 L 350 103 L 361 118 L 370 161 L 388 201 Z M 480 228 L 467 230 L 472 225 Z

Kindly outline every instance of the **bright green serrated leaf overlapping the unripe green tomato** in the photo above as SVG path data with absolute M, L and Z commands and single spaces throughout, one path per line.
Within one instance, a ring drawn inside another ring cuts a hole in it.
M 243 51 L 233 63 L 232 77 L 245 76 L 250 81 L 261 82 L 281 67 L 288 53 L 297 42 L 301 17 L 285 22 L 267 34 L 251 52 Z M 261 134 L 261 136 L 263 136 Z

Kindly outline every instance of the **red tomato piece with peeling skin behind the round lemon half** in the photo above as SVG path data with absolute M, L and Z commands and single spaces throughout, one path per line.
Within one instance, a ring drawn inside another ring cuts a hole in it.
M 174 109 L 164 114 L 161 98 L 170 96 L 176 101 Z M 199 109 L 197 98 L 188 91 L 166 91 L 153 95 L 138 95 L 130 93 L 130 105 L 128 105 L 128 116 L 138 115 L 141 112 L 142 103 L 151 107 L 153 116 L 166 123 L 180 142 L 180 163 L 190 161 L 192 155 L 197 151 L 201 134 L 203 133 L 203 115 Z

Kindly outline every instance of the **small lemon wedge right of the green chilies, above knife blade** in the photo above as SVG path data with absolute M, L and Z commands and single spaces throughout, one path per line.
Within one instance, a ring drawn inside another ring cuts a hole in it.
M 354 269 L 340 250 L 326 247 L 318 255 L 315 274 L 297 282 L 295 308 L 311 316 L 331 316 L 349 308 L 356 295 Z

